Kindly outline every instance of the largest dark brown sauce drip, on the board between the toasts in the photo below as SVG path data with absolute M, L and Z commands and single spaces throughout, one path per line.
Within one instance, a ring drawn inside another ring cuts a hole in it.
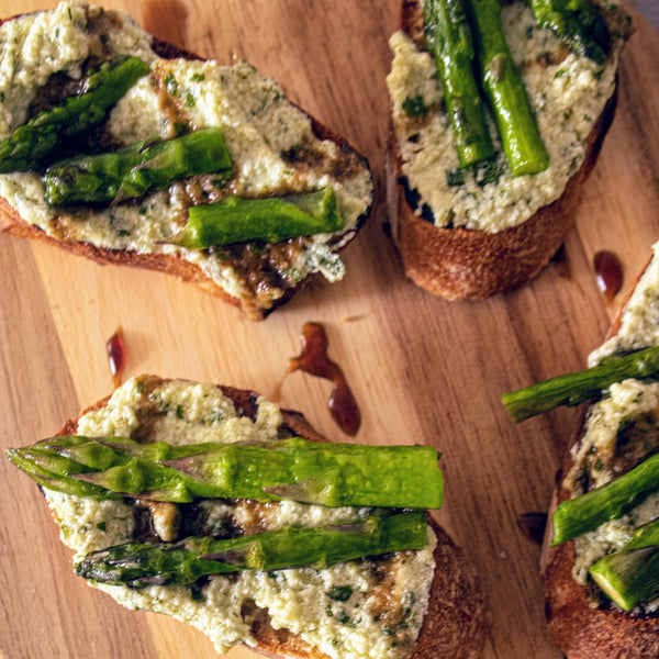
M 340 367 L 327 356 L 327 334 L 320 323 L 304 323 L 302 351 L 292 357 L 288 372 L 304 371 L 331 380 L 334 387 L 327 403 L 330 413 L 346 435 L 355 436 L 361 425 L 361 413 Z

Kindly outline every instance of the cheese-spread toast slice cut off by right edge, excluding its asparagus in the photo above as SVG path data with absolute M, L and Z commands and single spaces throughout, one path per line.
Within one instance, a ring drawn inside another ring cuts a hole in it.
M 604 345 L 591 354 L 589 358 L 590 366 L 595 366 L 606 355 L 615 353 L 625 353 L 639 349 L 651 345 L 659 345 L 659 245 L 655 246 L 655 255 L 644 272 L 639 276 L 635 288 L 628 300 L 622 306 L 618 316 L 615 319 L 610 336 Z M 616 386 L 614 386 L 616 387 Z M 635 398 L 638 402 L 633 402 L 632 396 L 625 393 L 632 388 L 636 389 Z M 657 443 L 657 432 L 659 429 L 659 410 L 648 400 L 652 394 L 652 389 L 657 388 L 656 382 L 639 382 L 636 380 L 623 382 L 617 390 L 610 389 L 603 392 L 601 402 L 597 402 L 587 411 L 582 427 L 577 434 L 576 442 L 566 455 L 565 463 L 557 477 L 557 488 L 554 493 L 549 514 L 551 515 L 556 506 L 567 499 L 574 495 L 574 479 L 577 476 L 589 473 L 584 466 L 590 460 L 593 466 L 592 457 L 589 459 L 588 451 L 595 451 L 596 456 L 611 455 L 611 449 L 606 449 L 596 444 L 593 437 L 596 426 L 600 426 L 601 436 L 607 435 L 615 437 L 616 445 L 623 445 L 616 434 L 624 425 L 640 427 L 638 424 L 645 424 L 645 440 L 639 443 L 639 433 L 629 434 L 627 431 L 627 449 L 636 453 L 635 461 L 659 450 Z M 644 399 L 646 403 L 644 403 Z M 616 414 L 614 423 L 615 432 L 606 434 L 608 424 L 604 423 L 606 414 L 603 413 L 603 405 L 607 400 L 619 401 L 621 411 Z M 639 431 L 640 432 L 640 431 Z M 629 468 L 635 466 L 635 461 L 621 461 L 624 449 L 617 449 L 613 456 L 618 460 L 615 477 L 622 476 Z M 592 453 L 591 453 L 592 456 Z M 606 470 L 604 460 L 604 470 Z M 634 526 L 641 524 L 644 513 L 641 506 L 651 504 L 651 498 L 657 499 L 659 493 L 650 494 L 645 503 L 629 513 L 632 520 L 636 518 Z M 640 511 L 640 512 L 639 512 Z M 649 513 L 652 515 L 651 512 Z M 657 513 L 655 511 L 654 516 Z M 617 528 L 617 538 L 614 535 L 614 527 Z M 603 541 L 600 549 L 592 554 L 591 559 L 587 559 L 589 547 L 595 547 L 597 537 L 611 534 L 611 541 Z M 543 545 L 541 556 L 541 576 L 545 584 L 546 595 L 546 616 L 549 630 L 557 644 L 569 659 L 604 659 L 610 657 L 625 657 L 629 659 L 651 659 L 659 656 L 659 601 L 645 603 L 626 613 L 610 601 L 606 601 L 597 590 L 592 579 L 585 579 L 584 570 L 589 563 L 594 562 L 602 554 L 618 549 L 621 543 L 628 537 L 628 529 L 619 523 L 606 523 L 597 532 L 587 534 L 576 540 L 571 540 L 556 547 L 551 547 L 551 529 L 548 526 Z M 584 557 L 584 558 L 581 558 Z

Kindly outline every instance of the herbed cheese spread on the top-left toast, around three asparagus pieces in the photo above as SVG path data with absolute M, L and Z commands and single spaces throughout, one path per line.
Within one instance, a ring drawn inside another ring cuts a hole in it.
M 101 27 L 99 56 L 99 35 L 93 33 L 98 27 L 92 25 L 110 13 L 112 21 Z M 272 197 L 332 186 L 344 227 L 336 234 L 305 239 L 287 264 L 286 277 L 291 284 L 312 272 L 322 272 L 330 281 L 343 277 L 345 267 L 335 249 L 370 206 L 370 172 L 348 149 L 353 166 L 336 174 L 342 158 L 348 157 L 346 149 L 319 139 L 310 118 L 286 99 L 277 82 L 244 62 L 220 66 L 216 62 L 160 59 L 152 49 L 152 36 L 129 16 L 82 2 L 63 2 L 52 11 L 0 25 L 0 138 L 29 119 L 30 105 L 54 74 L 79 79 L 92 54 L 108 60 L 131 54 L 150 65 L 150 75 L 129 90 L 110 114 L 105 132 L 118 147 L 174 137 L 181 126 L 219 127 L 235 169 L 227 192 Z M 304 154 L 312 154 L 313 161 L 311 157 L 305 160 Z M 202 182 L 201 188 L 193 192 L 198 199 L 201 194 L 197 202 L 213 201 L 213 193 L 222 193 L 213 188 L 213 181 Z M 46 203 L 38 174 L 20 172 L 0 176 L 0 196 L 21 217 L 57 239 L 174 255 L 199 266 L 230 295 L 244 299 L 249 294 L 223 250 L 167 244 L 186 224 L 187 208 L 194 202 L 189 186 L 175 185 L 137 203 L 62 212 Z M 268 295 L 275 300 L 283 292 L 273 288 Z

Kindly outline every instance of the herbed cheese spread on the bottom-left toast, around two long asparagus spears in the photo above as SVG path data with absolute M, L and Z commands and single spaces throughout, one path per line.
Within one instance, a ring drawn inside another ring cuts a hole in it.
M 214 386 L 176 380 L 154 384 L 141 377 L 120 387 L 105 407 L 85 414 L 77 432 L 125 437 L 146 432 L 149 438 L 178 445 L 277 439 L 280 425 L 279 407 L 264 399 L 258 400 L 254 418 L 248 418 L 239 416 Z M 138 525 L 131 503 L 53 491 L 46 491 L 46 496 L 60 522 L 63 541 L 77 556 L 135 538 Z M 225 500 L 198 500 L 194 510 L 204 533 L 213 535 L 231 528 L 249 533 L 250 526 L 273 530 L 287 525 L 334 524 L 372 512 L 291 501 L 259 505 Z M 154 524 L 158 534 L 176 536 L 166 520 Z M 244 571 L 212 577 L 199 588 L 94 585 L 129 608 L 166 613 L 190 623 L 220 652 L 236 644 L 256 645 L 250 615 L 267 611 L 273 628 L 290 629 L 328 657 L 398 659 L 409 656 L 423 623 L 435 569 L 434 546 L 435 536 L 428 530 L 425 549 L 381 561 L 348 561 L 322 570 Z

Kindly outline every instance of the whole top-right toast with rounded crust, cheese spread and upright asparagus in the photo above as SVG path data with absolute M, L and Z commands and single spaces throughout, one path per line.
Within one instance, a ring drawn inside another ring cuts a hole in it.
M 403 0 L 401 31 L 390 40 L 389 215 L 405 273 L 417 286 L 448 300 L 487 298 L 515 289 L 537 275 L 572 226 L 581 189 L 614 115 L 616 69 L 630 24 L 621 10 L 595 2 L 611 43 L 607 54 L 593 60 L 571 52 L 565 38 L 540 26 L 528 3 L 503 3 L 503 44 L 489 55 L 487 40 L 492 27 L 481 25 L 483 35 L 478 35 L 478 30 L 471 34 L 473 42 L 480 40 L 484 45 L 473 45 L 470 56 L 476 48 L 479 58 L 492 57 L 481 64 L 481 85 L 487 87 L 488 76 L 507 83 L 506 77 L 512 79 L 518 72 L 521 86 L 514 92 L 494 90 L 499 100 L 509 94 L 511 105 L 507 110 L 507 105 L 502 110 L 494 105 L 496 121 L 484 111 L 489 150 L 482 159 L 465 164 L 458 150 L 460 135 L 449 114 L 463 116 L 467 110 L 450 104 L 450 94 L 440 83 L 442 67 L 435 62 L 447 55 L 438 53 L 434 59 L 428 43 L 438 49 L 433 40 L 445 38 L 450 44 L 455 38 L 453 46 L 459 51 L 469 38 L 461 33 L 433 36 L 439 22 L 433 12 L 440 12 L 435 8 L 443 2 Z M 446 3 L 453 4 L 450 0 Z M 492 3 L 494 9 L 488 8 L 487 1 L 467 4 L 477 14 L 485 13 L 485 19 L 487 12 L 499 11 L 498 3 Z M 425 20 L 424 12 L 433 23 Z M 460 16 L 453 16 L 449 24 L 459 30 L 459 21 Z M 492 22 L 498 22 L 496 16 Z M 451 70 L 449 67 L 446 75 Z M 522 103 L 517 97 L 524 91 L 527 101 Z M 474 93 L 478 96 L 478 90 Z M 499 125 L 498 113 L 515 116 L 521 108 L 526 111 L 518 126 Z M 511 135 L 520 139 L 518 150 L 532 142 L 538 154 L 515 161 L 517 145 L 509 149 L 506 142 Z M 534 135 L 533 139 L 528 135 Z

